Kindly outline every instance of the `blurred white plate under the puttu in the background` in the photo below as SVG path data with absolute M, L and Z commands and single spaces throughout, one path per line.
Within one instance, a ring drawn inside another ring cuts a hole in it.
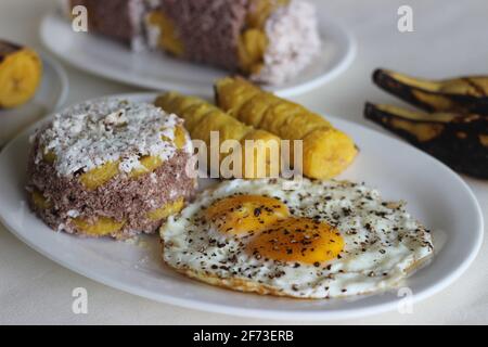
M 323 4 L 322 4 L 323 5 Z M 319 5 L 323 49 L 316 61 L 293 80 L 270 90 L 282 97 L 304 93 L 344 72 L 356 44 L 348 31 L 324 16 Z M 172 59 L 159 52 L 133 53 L 126 46 L 87 33 L 75 33 L 59 13 L 47 14 L 40 27 L 42 42 L 72 65 L 117 81 L 155 90 L 177 90 L 209 97 L 213 82 L 224 70 Z

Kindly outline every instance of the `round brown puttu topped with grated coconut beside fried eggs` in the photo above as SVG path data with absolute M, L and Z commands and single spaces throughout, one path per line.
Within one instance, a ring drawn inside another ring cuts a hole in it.
M 31 141 L 29 205 L 56 231 L 116 239 L 152 233 L 196 189 L 182 119 L 152 104 L 78 104 Z

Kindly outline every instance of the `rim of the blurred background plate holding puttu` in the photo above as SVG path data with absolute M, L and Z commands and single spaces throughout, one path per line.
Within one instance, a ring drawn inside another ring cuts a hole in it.
M 318 9 L 318 12 L 320 9 Z M 313 90 L 319 86 L 325 85 L 330 81 L 332 81 L 334 78 L 343 74 L 354 62 L 357 55 L 357 40 L 351 33 L 341 21 L 337 21 L 335 18 L 331 18 L 329 16 L 325 16 L 328 27 L 331 27 L 334 29 L 335 33 L 338 33 L 338 35 L 335 35 L 335 37 L 341 37 L 342 47 L 344 47 L 345 53 L 341 55 L 339 60 L 336 62 L 335 65 L 333 65 L 329 70 L 326 70 L 324 74 L 320 74 L 318 76 L 314 76 L 310 78 L 307 81 L 304 81 L 301 83 L 290 86 L 290 87 L 273 87 L 270 86 L 269 88 L 272 89 L 272 92 L 277 93 L 280 97 L 283 98 L 290 98 L 290 97 L 296 97 L 304 94 L 307 91 Z M 95 64 L 80 64 L 76 62 L 76 59 L 73 59 L 66 54 L 62 54 L 59 50 L 55 49 L 54 44 L 51 43 L 51 40 L 48 38 L 46 26 L 49 25 L 50 21 L 56 21 L 62 20 L 60 11 L 57 9 L 53 9 L 49 12 L 47 12 L 39 24 L 39 37 L 44 46 L 52 54 L 57 56 L 60 60 L 65 62 L 66 64 L 69 64 L 70 66 L 86 72 L 92 76 L 104 78 L 107 80 L 113 80 L 116 82 L 121 82 L 127 86 L 133 86 L 141 89 L 149 89 L 149 90 L 179 90 L 181 92 L 187 93 L 195 93 L 201 95 L 209 97 L 211 93 L 211 88 L 207 88 L 205 90 L 198 90 L 197 87 L 191 87 L 188 83 L 184 82 L 174 82 L 174 81 L 154 81 L 154 80 L 146 80 L 144 82 L 137 82 L 133 81 L 131 78 L 125 78 L 124 74 L 120 74 L 119 70 L 113 72 L 113 70 L 106 70 L 103 67 L 98 67 Z M 292 79 L 293 80 L 293 79 Z M 265 89 L 267 86 L 264 87 Z M 184 89 L 184 90 L 183 90 Z

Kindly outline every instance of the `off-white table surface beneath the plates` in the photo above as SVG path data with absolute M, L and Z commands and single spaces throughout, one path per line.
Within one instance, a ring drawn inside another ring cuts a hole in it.
M 397 10 L 402 4 L 413 9 L 413 33 L 399 33 L 397 29 Z M 54 5 L 54 0 L 2 0 L 0 37 L 42 49 L 38 37 L 39 22 L 43 13 Z M 433 78 L 488 73 L 488 3 L 485 0 L 328 0 L 328 9 L 331 16 L 341 20 L 355 34 L 358 55 L 350 68 L 331 83 L 294 98 L 312 110 L 374 127 L 362 119 L 364 101 L 393 101 L 371 83 L 371 72 L 375 67 Z M 70 82 L 66 104 L 103 94 L 140 91 L 65 67 Z M 485 220 L 488 220 L 488 182 L 463 178 L 476 194 Z M 487 324 L 487 264 L 488 237 L 485 237 L 477 259 L 462 278 L 434 297 L 414 305 L 412 313 L 395 311 L 317 323 Z M 1 224 L 0 279 L 0 324 L 283 323 L 183 309 L 107 287 L 37 254 Z M 75 287 L 88 291 L 87 314 L 72 311 L 72 291 Z

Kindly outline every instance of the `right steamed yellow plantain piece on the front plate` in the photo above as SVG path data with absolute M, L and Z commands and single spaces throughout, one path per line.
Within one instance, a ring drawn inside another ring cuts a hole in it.
M 243 78 L 222 78 L 215 92 L 218 106 L 239 120 L 284 140 L 303 140 L 303 171 L 307 177 L 335 177 L 356 157 L 352 140 L 322 116 Z

